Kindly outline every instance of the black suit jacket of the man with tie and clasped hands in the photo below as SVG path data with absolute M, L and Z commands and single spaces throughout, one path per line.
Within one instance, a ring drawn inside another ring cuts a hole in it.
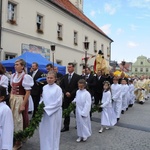
M 70 83 L 68 83 L 68 74 L 64 75 L 60 87 L 62 88 L 62 91 L 64 93 L 64 100 L 69 99 L 72 101 L 76 96 L 76 91 L 78 90 L 78 81 L 80 79 L 80 76 L 76 73 L 72 75 Z M 66 92 L 69 92 L 71 94 L 71 97 L 66 97 Z

